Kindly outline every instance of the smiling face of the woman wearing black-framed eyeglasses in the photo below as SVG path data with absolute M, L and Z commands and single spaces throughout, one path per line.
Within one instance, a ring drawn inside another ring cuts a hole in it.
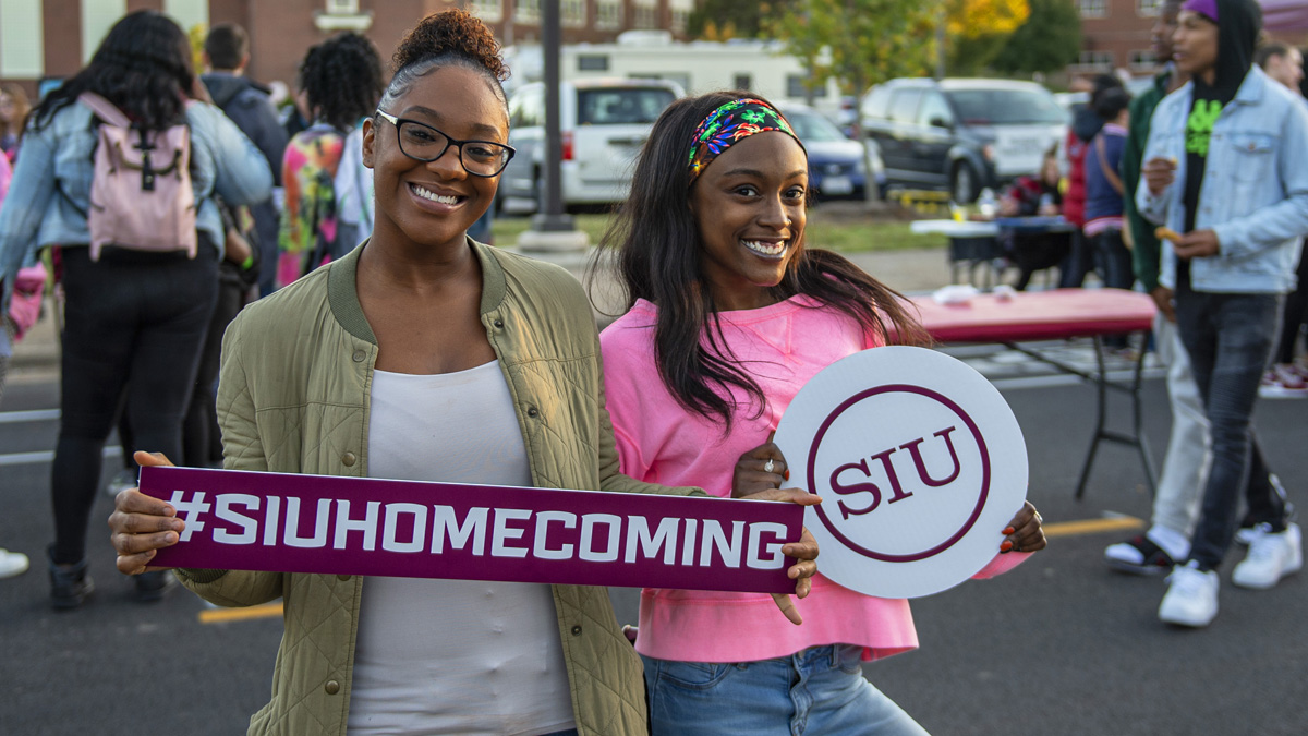
M 419 77 L 386 113 L 441 130 L 460 140 L 509 143 L 504 102 L 481 75 L 442 67 Z M 373 240 L 419 248 L 464 248 L 467 229 L 494 202 L 500 177 L 475 177 L 450 145 L 434 161 L 400 151 L 395 126 L 364 123 L 364 165 L 373 169 L 377 220 Z

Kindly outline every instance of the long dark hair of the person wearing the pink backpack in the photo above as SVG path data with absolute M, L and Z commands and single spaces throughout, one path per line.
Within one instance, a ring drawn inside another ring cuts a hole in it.
M 137 10 L 114 24 L 86 68 L 37 106 L 33 124 L 47 124 L 78 94 L 94 92 L 145 130 L 164 130 L 183 119 L 194 84 L 191 43 L 182 29 L 162 13 Z

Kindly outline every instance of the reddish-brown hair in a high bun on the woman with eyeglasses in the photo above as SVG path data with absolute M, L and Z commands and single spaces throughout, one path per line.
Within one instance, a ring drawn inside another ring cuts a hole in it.
M 500 56 L 500 42 L 485 24 L 458 8 L 422 18 L 404 35 L 391 56 L 395 76 L 382 97 L 382 107 L 388 107 L 419 77 L 439 67 L 463 67 L 480 73 L 508 109 L 501 83 L 509 79 L 509 67 Z

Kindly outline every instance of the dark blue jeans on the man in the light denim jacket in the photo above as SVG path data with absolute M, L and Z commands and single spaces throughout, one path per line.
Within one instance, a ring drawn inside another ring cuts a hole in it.
M 1235 537 L 1241 494 L 1249 516 L 1284 529 L 1286 499 L 1267 479 L 1250 418 L 1271 358 L 1281 295 L 1176 292 L 1176 323 L 1213 436 L 1213 460 L 1190 559 L 1215 570 Z

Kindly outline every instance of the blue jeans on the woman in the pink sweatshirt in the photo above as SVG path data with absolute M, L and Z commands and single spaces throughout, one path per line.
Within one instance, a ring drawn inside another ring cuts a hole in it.
M 926 736 L 863 680 L 862 647 L 731 664 L 645 660 L 654 736 Z

